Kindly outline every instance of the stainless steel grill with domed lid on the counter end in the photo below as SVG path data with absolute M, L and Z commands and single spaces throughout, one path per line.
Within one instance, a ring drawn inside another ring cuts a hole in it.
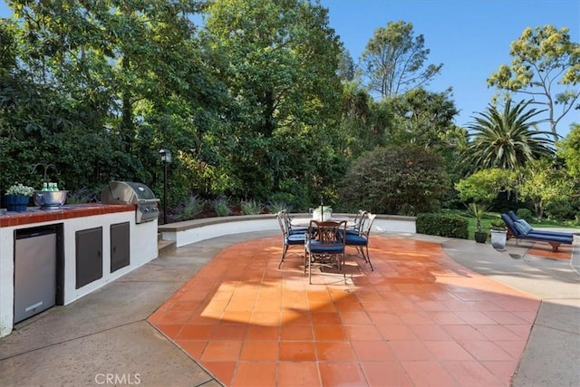
M 103 204 L 134 204 L 137 206 L 135 223 L 149 222 L 159 218 L 159 201 L 160 199 L 155 198 L 153 191 L 142 183 L 111 181 L 101 192 Z

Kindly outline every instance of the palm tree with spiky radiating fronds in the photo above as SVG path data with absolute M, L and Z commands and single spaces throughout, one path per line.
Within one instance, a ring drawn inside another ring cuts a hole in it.
M 527 110 L 530 103 L 517 102 L 512 108 L 507 101 L 503 111 L 489 104 L 487 111 L 468 124 L 471 141 L 463 160 L 471 172 L 494 167 L 519 169 L 527 160 L 554 156 L 552 132 L 536 129 L 544 120 L 530 121 L 544 111 Z

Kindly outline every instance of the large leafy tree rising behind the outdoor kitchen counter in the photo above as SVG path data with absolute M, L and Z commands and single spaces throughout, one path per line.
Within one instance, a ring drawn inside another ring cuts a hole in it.
M 20 19 L 20 82 L 39 91 L 30 99 L 35 103 L 27 104 L 28 114 L 14 123 L 27 130 L 22 133 L 27 151 L 14 150 L 14 160 L 25 163 L 24 157 L 34 154 L 36 160 L 53 162 L 58 155 L 59 169 L 67 171 L 62 179 L 77 188 L 121 178 L 155 189 L 152 167 L 160 144 L 177 142 L 171 119 L 178 114 L 171 108 L 179 103 L 172 100 L 178 96 L 184 105 L 187 99 L 194 105 L 189 111 L 208 100 L 200 85 L 210 82 L 189 19 L 201 9 L 199 2 L 8 4 Z M 195 118 L 183 121 L 192 128 Z M 169 125 L 160 127 L 160 122 Z

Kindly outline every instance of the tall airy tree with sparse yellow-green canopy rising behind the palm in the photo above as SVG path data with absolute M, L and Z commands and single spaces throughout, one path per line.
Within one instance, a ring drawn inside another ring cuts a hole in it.
M 555 136 L 558 122 L 571 109 L 580 109 L 580 89 L 576 87 L 580 82 L 580 44 L 570 40 L 568 31 L 549 24 L 526 28 L 511 43 L 511 64 L 501 64 L 488 78 L 489 86 L 522 93 L 546 107 Z

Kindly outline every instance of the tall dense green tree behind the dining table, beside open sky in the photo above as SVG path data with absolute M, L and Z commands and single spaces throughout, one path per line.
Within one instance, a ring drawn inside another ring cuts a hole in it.
M 341 45 L 328 23 L 327 10 L 306 0 L 208 7 L 208 41 L 234 102 L 237 194 L 263 198 L 328 163 L 341 91 Z

